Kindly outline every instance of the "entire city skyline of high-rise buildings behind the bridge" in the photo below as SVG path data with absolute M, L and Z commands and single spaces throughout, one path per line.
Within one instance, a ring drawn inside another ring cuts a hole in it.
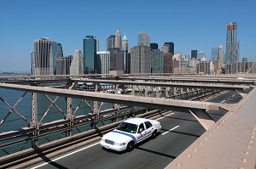
M 32 75 L 81 75 L 90 73 L 108 74 L 110 71 L 130 73 L 195 73 L 195 74 L 231 74 L 254 73 L 256 65 L 243 58 L 239 62 L 239 42 L 236 40 L 237 23 L 227 24 L 226 51 L 222 45 L 211 48 L 211 60 L 206 54 L 191 50 L 189 55 L 174 53 L 174 42 L 165 42 L 160 50 L 158 43 L 150 43 L 150 35 L 138 32 L 138 46 L 129 48 L 128 38 L 121 38 L 119 27 L 115 35 L 106 40 L 106 51 L 99 52 L 99 40 L 94 36 L 83 39 L 83 54 L 63 57 L 61 43 L 49 38 L 34 40 L 31 52 Z M 122 40 L 121 40 L 122 39 Z M 130 53 L 131 52 L 131 53 Z M 117 74 L 115 74 L 117 75 Z

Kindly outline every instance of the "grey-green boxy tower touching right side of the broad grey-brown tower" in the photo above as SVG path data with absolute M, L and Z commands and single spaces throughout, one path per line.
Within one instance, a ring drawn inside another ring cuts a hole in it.
M 164 52 L 158 49 L 151 51 L 151 73 L 164 73 Z

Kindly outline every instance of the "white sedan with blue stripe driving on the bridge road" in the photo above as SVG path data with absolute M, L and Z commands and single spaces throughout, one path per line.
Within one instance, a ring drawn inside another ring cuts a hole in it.
M 150 137 L 156 138 L 160 129 L 159 121 L 131 118 L 119 124 L 112 132 L 104 135 L 100 144 L 105 149 L 131 151 L 135 144 Z

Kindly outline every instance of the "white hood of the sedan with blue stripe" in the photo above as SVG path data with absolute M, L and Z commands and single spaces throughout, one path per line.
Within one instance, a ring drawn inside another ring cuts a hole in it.
M 123 143 L 130 140 L 133 140 L 135 143 L 137 142 L 133 134 L 129 132 L 122 132 L 119 130 L 113 130 L 112 132 L 108 132 L 106 135 L 103 136 L 103 139 L 109 139 L 115 143 Z

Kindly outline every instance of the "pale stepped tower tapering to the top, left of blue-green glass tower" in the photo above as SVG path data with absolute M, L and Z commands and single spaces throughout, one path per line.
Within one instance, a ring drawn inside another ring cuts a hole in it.
M 70 75 L 84 74 L 84 57 L 81 50 L 75 50 L 73 60 L 70 65 Z

